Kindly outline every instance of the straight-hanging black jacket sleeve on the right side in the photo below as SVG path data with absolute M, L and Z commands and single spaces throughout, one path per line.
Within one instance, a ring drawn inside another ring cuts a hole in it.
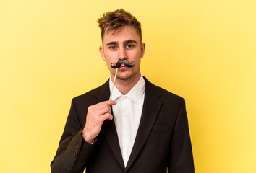
M 195 172 L 184 99 L 182 100 L 182 104 L 179 109 L 179 115 L 176 118 L 174 133 L 171 139 L 168 172 Z

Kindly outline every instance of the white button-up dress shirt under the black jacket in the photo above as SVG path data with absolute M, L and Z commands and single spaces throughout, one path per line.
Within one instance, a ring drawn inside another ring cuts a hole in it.
M 109 79 L 110 90 L 112 86 L 113 82 Z M 126 95 L 121 94 L 119 89 L 114 86 L 111 99 L 116 100 L 117 103 L 112 105 L 112 110 L 125 167 L 135 143 L 144 98 L 145 80 L 142 76 L 140 76 L 140 80 Z

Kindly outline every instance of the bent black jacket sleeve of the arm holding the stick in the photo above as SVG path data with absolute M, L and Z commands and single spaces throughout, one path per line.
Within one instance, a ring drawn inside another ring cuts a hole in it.
M 82 128 L 73 99 L 59 148 L 51 162 L 52 173 L 83 172 L 94 144 L 89 144 L 82 138 Z

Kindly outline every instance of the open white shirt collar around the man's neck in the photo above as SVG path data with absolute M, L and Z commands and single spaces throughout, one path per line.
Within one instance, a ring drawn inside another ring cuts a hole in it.
M 109 79 L 110 91 L 112 89 L 112 86 L 113 86 L 113 82 L 111 81 L 111 79 Z M 126 96 L 126 97 L 129 97 L 129 99 L 131 99 L 132 102 L 139 103 L 144 92 L 145 92 L 145 80 L 143 79 L 142 76 L 140 76 L 140 80 L 137 82 L 137 84 L 135 84 L 135 86 L 133 86 L 133 88 L 126 95 L 121 94 L 119 89 L 117 89 L 116 86 L 114 86 L 111 100 L 116 100 L 121 96 L 122 97 Z

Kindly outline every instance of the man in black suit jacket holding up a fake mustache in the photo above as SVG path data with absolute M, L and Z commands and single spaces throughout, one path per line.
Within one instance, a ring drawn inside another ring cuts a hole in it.
M 184 99 L 140 74 L 145 53 L 140 22 L 124 9 L 98 19 L 101 57 L 111 78 L 72 100 L 52 172 L 194 171 Z M 107 101 L 118 68 L 112 100 Z

